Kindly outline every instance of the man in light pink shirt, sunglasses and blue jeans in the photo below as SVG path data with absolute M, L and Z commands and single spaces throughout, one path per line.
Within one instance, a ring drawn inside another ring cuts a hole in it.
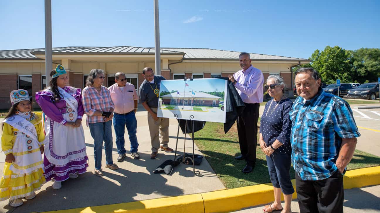
M 131 142 L 131 156 L 134 159 L 139 159 L 140 156 L 137 153 L 139 144 L 137 143 L 137 120 L 135 113 L 137 111 L 137 93 L 135 86 L 127 82 L 125 74 L 118 72 L 115 74 L 115 84 L 108 88 L 111 94 L 112 102 L 114 102 L 114 118 L 113 124 L 116 135 L 117 161 L 122 162 L 126 157 L 126 150 L 124 148 L 124 133 L 125 127 L 127 127 L 129 141 Z

